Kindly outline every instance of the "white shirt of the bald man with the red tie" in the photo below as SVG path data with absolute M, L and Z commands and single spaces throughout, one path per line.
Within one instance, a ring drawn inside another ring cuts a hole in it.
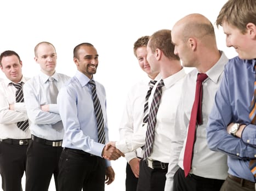
M 203 123 L 196 127 L 196 141 L 190 171 L 190 173 L 197 176 L 220 180 L 225 180 L 227 177 L 227 158 L 223 153 L 209 150 L 206 140 L 206 125 L 214 103 L 215 93 L 217 92 L 220 81 L 223 77 L 224 65 L 227 61 L 227 57 L 222 52 L 219 61 L 206 72 L 208 78 L 204 80 L 202 84 Z M 180 153 L 180 156 L 178 160 L 176 157 L 170 157 L 168 172 L 166 174 L 167 180 L 164 189 L 165 191 L 173 190 L 173 176 L 179 166 L 184 169 L 183 157 L 186 145 L 187 128 L 189 126 L 191 109 L 195 99 L 197 73 L 197 69 L 192 70 L 187 74 L 183 83 L 174 124 L 176 140 L 172 145 L 170 145 L 170 154 L 177 155 Z

